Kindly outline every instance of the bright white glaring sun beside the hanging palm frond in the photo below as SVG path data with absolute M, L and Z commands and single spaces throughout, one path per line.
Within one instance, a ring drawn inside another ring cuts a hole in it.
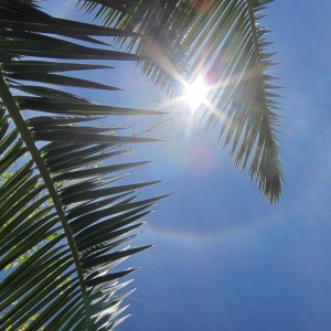
M 196 110 L 206 100 L 207 93 L 207 83 L 202 75 L 199 75 L 193 83 L 185 84 L 183 100 L 190 105 L 192 110 Z

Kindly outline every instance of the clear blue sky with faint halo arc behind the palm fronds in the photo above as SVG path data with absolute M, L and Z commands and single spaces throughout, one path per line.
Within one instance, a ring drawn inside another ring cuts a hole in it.
M 182 122 L 166 130 L 184 130 L 180 141 L 137 148 L 134 158 L 156 162 L 135 170 L 136 180 L 163 179 L 150 195 L 175 195 L 139 239 L 158 245 L 129 261 L 142 269 L 120 331 L 331 330 L 331 2 L 276 0 L 267 12 L 280 62 L 273 72 L 286 87 L 280 202 L 261 199 L 213 132 L 200 139 Z M 89 76 L 128 90 L 98 95 L 105 103 L 148 107 L 158 98 L 137 71 L 118 68 Z

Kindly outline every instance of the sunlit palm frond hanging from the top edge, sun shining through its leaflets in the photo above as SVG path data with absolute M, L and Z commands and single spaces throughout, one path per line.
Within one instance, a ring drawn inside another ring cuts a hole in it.
M 79 0 L 105 25 L 130 30 L 145 39 L 118 36 L 136 54 L 153 58 L 137 65 L 169 95 L 181 79 L 205 76 L 205 128 L 218 126 L 220 139 L 231 145 L 234 163 L 248 168 L 263 194 L 276 202 L 282 170 L 277 146 L 279 116 L 274 93 L 278 86 L 267 70 L 274 64 L 268 30 L 258 21 L 273 0 Z

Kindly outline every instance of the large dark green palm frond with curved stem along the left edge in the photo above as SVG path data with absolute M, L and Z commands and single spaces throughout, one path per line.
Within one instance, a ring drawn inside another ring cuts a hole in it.
M 128 34 L 54 19 L 33 1 L 0 0 L 0 269 L 11 266 L 0 284 L 1 330 L 113 330 L 126 318 L 121 302 L 132 290 L 122 291 L 130 280 L 121 278 L 135 268 L 114 268 L 150 247 L 129 243 L 163 196 L 137 197 L 157 182 L 117 184 L 146 162 L 114 158 L 125 143 L 153 140 L 107 135 L 117 128 L 90 121 L 158 113 L 99 105 L 55 86 L 117 89 L 62 73 L 107 68 L 73 60 L 140 61 L 82 44 Z

